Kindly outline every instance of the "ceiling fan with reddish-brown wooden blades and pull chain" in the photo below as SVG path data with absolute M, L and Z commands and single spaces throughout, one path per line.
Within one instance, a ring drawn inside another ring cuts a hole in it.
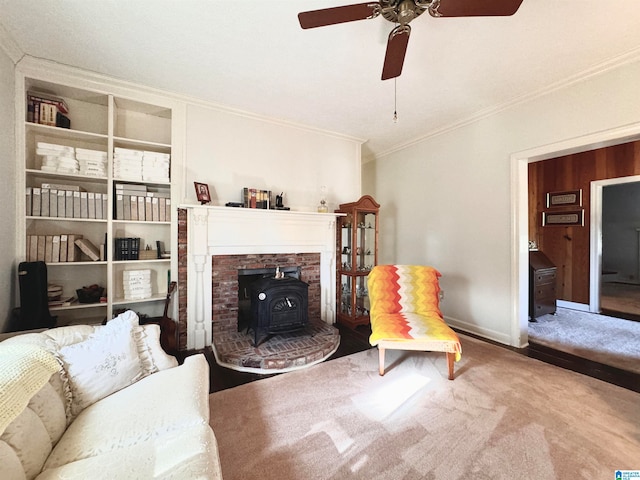
M 395 23 L 387 40 L 382 80 L 400 76 L 409 44 L 409 22 L 428 11 L 432 17 L 509 16 L 516 13 L 523 0 L 380 0 L 341 7 L 311 10 L 298 14 L 304 29 L 337 23 L 369 20 L 382 15 Z

